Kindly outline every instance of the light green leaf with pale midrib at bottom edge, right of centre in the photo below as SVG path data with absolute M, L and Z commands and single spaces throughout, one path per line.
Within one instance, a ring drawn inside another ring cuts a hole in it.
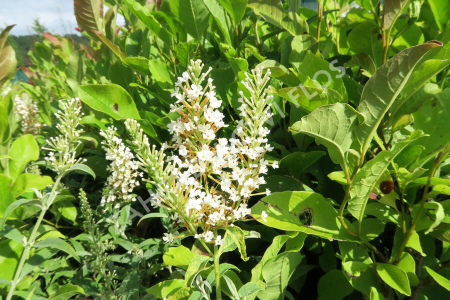
M 284 299 L 287 283 L 302 257 L 299 252 L 283 252 L 268 260 L 262 267 L 267 288 L 259 291 L 257 297 L 261 300 Z

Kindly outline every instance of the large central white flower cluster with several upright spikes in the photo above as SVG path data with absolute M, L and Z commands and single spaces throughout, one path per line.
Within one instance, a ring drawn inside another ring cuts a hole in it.
M 206 72 L 202 69 L 200 60 L 191 60 L 175 83 L 172 96 L 176 101 L 170 108 L 179 117 L 167 125 L 173 137 L 162 146 L 172 149 L 172 155 L 165 157 L 165 167 L 162 151 L 142 150 L 149 145 L 138 124 L 127 120 L 125 127 L 143 169 L 159 169 L 149 172 L 156 183 L 156 192 L 151 195 L 153 206 L 167 208 L 173 219 L 195 237 L 220 244 L 223 240 L 217 229 L 249 217 L 249 197 L 270 193 L 253 193 L 265 183 L 262 174 L 267 173 L 269 165 L 278 167 L 276 161 L 263 158 L 273 148 L 266 138 L 270 130 L 264 126 L 272 115 L 268 103 L 271 96 L 266 94 L 270 71 L 245 73 L 242 84 L 246 91 L 241 91 L 239 98 L 241 119 L 235 137 L 225 138 L 219 137 L 219 129 L 228 126 L 219 110 L 222 101 L 216 97 L 212 78 L 206 79 L 211 68 Z M 158 163 L 151 163 L 156 160 Z M 171 239 L 171 235 L 164 237 L 164 241 Z

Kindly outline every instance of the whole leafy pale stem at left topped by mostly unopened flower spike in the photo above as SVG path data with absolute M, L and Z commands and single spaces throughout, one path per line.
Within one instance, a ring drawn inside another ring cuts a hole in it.
M 42 148 L 48 150 L 49 152 L 44 157 L 44 161 L 39 163 L 56 172 L 54 183 L 45 188 L 43 192 L 33 188 L 33 191 L 37 196 L 36 199 L 23 198 L 12 202 L 5 209 L 4 216 L 0 223 L 0 229 L 2 229 L 10 213 L 21 205 L 34 205 L 40 209 L 39 215 L 34 222 L 31 231 L 27 236 L 23 236 L 23 251 L 20 255 L 20 260 L 16 266 L 13 278 L 9 282 L 10 288 L 6 296 L 6 300 L 12 298 L 17 284 L 21 281 L 21 279 L 23 279 L 23 276 L 26 275 L 26 273 L 23 273 L 22 270 L 27 259 L 29 258 L 30 253 L 32 253 L 34 249 L 40 247 L 54 247 L 67 252 L 72 257 L 79 260 L 74 249 L 60 238 L 47 237 L 43 240 L 36 241 L 38 227 L 42 222 L 45 213 L 53 204 L 56 196 L 62 188 L 60 182 L 62 177 L 73 170 L 81 170 L 95 177 L 93 171 L 88 166 L 83 164 L 85 159 L 76 157 L 76 147 L 81 143 L 79 136 L 82 129 L 79 129 L 79 125 L 83 114 L 81 112 L 79 100 L 78 98 L 72 98 L 65 101 L 60 100 L 59 104 L 62 109 L 56 112 L 55 116 L 58 120 L 56 129 L 60 133 L 57 136 L 50 137 L 45 141 L 45 146 Z

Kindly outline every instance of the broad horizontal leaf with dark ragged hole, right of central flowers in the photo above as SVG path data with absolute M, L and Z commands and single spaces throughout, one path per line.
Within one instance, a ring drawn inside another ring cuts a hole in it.
M 262 210 L 268 214 L 266 222 L 259 218 Z M 354 239 L 341 227 L 337 211 L 315 192 L 274 192 L 259 200 L 251 211 L 258 222 L 281 230 L 301 231 L 338 240 Z

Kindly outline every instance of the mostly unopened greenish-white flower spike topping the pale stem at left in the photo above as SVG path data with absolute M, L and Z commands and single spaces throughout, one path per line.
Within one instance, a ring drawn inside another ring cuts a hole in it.
M 68 100 L 59 100 L 61 110 L 54 115 L 58 119 L 56 129 L 60 132 L 55 137 L 46 140 L 47 147 L 43 149 L 50 150 L 44 158 L 48 165 L 57 172 L 64 172 L 75 163 L 85 161 L 85 159 L 76 158 L 75 148 L 81 141 L 78 139 L 82 129 L 80 125 L 81 106 L 78 98 Z

